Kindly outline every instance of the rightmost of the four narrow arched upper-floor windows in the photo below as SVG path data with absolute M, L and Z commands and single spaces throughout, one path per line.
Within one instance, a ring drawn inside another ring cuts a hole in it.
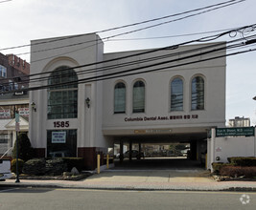
M 191 110 L 204 109 L 204 79 L 196 76 L 191 84 Z

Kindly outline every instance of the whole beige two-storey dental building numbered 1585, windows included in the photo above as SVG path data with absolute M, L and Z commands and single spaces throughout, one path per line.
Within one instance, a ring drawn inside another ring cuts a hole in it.
M 50 85 L 30 93 L 29 136 L 38 157 L 65 151 L 95 169 L 96 154 L 106 154 L 115 143 L 138 144 L 140 150 L 144 143 L 185 142 L 198 158 L 207 132 L 224 127 L 225 50 L 203 52 L 225 43 L 105 53 L 100 37 L 91 33 L 35 40 L 31 46 L 31 73 L 44 74 L 30 87 Z M 221 58 L 201 62 L 211 56 Z M 69 83 L 51 86 L 61 82 Z

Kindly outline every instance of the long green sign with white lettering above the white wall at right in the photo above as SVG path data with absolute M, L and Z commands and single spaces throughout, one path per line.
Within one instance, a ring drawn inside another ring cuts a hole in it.
M 216 136 L 254 136 L 254 127 L 217 128 Z

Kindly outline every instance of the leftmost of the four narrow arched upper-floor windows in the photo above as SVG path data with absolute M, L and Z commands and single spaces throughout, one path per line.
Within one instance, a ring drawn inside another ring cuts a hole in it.
M 126 113 L 126 85 L 123 82 L 115 85 L 114 113 Z

